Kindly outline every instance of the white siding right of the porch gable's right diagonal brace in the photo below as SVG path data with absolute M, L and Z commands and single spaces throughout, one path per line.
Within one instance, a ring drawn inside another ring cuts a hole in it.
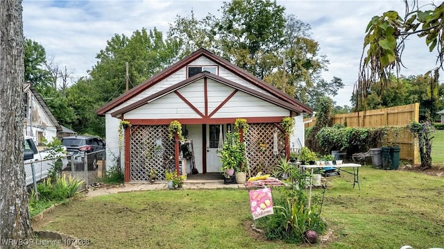
M 289 116 L 289 114 L 289 110 L 244 92 L 237 92 L 213 117 L 276 117 Z

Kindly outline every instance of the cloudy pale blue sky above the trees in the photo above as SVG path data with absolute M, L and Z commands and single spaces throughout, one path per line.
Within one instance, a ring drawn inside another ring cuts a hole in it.
M 319 42 L 319 54 L 330 61 L 323 78 L 330 81 L 336 76 L 345 85 L 333 96 L 336 105 L 341 106 L 351 105 L 368 22 L 387 10 L 404 15 L 404 2 L 400 0 L 277 0 L 277 3 L 286 8 L 287 15 L 295 15 L 311 26 L 311 38 Z M 421 5 L 427 3 L 432 1 L 420 1 Z M 66 67 L 75 82 L 87 76 L 87 71 L 96 65 L 96 54 L 105 49 L 115 34 L 131 36 L 142 28 L 157 28 L 166 36 L 177 15 L 186 17 L 193 10 L 198 19 L 209 12 L 219 17 L 223 1 L 24 0 L 22 6 L 24 36 L 42 44 L 46 57 L 59 68 Z M 400 74 L 425 74 L 436 67 L 436 53 L 429 53 L 424 39 L 412 37 L 407 41 L 402 62 L 407 68 L 402 68 Z

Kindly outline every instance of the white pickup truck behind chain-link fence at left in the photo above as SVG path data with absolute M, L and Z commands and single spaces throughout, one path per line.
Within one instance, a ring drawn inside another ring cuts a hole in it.
M 62 146 L 66 152 L 66 147 Z M 35 181 L 40 182 L 49 175 L 49 170 L 56 164 L 56 157 L 62 160 L 62 169 L 68 165 L 67 155 L 65 153 L 53 153 L 51 150 L 38 151 L 32 137 L 25 137 L 24 141 L 24 167 L 25 167 L 25 182 L 26 186 L 33 184 L 33 170 L 34 164 Z

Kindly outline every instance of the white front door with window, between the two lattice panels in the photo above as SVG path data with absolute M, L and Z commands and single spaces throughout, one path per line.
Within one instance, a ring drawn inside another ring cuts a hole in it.
M 225 134 L 225 127 L 223 124 L 207 125 L 207 173 L 221 172 L 222 163 L 217 155 L 217 149 L 219 148 L 219 139 L 223 139 L 223 136 L 220 137 L 221 133 Z

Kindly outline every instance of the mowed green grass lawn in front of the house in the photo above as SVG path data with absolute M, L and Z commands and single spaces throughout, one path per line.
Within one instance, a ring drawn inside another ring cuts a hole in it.
M 310 248 L 444 247 L 442 177 L 359 171 L 361 191 L 347 173 L 327 178 L 322 210 L 334 237 Z M 81 248 L 295 248 L 257 237 L 249 208 L 246 190 L 144 191 L 80 198 L 33 227 L 90 241 Z

